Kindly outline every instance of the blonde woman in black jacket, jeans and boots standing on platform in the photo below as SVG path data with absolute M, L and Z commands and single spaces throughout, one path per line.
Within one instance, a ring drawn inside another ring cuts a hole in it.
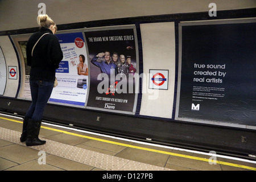
M 56 33 L 57 27 L 48 15 L 39 15 L 39 32 L 34 33 L 27 42 L 27 65 L 31 66 L 30 90 L 32 103 L 23 120 L 20 142 L 27 146 L 45 144 L 38 138 L 44 108 L 51 96 L 55 81 L 55 69 L 63 59 L 63 52 Z

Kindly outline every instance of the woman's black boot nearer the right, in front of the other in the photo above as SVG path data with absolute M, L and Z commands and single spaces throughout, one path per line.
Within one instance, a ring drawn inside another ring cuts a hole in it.
M 33 121 L 32 119 L 29 119 L 27 125 L 27 146 L 40 146 L 46 143 L 46 141 L 38 138 L 41 122 L 42 121 Z

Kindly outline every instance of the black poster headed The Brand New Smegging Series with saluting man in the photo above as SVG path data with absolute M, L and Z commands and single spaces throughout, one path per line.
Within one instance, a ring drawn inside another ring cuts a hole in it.
M 138 74 L 135 28 L 85 31 L 90 64 L 87 106 L 134 113 Z

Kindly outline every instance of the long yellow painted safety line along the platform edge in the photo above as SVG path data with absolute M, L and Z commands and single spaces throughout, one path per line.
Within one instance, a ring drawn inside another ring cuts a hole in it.
M 17 122 L 17 123 L 23 123 L 23 122 L 21 122 L 21 121 L 17 121 L 17 120 L 14 120 L 14 119 L 9 119 L 9 118 L 0 117 L 0 119 L 5 119 L 5 120 Z M 137 148 L 137 149 L 139 149 L 139 150 L 157 152 L 157 153 L 160 153 L 160 154 L 167 154 L 167 155 L 172 155 L 172 156 L 179 156 L 179 157 L 181 157 L 181 158 L 188 158 L 188 159 L 201 160 L 201 161 L 204 161 L 204 162 L 211 162 L 211 163 L 222 164 L 222 165 L 226 165 L 226 166 L 233 166 L 233 167 L 238 167 L 238 168 L 245 168 L 245 169 L 250 169 L 250 170 L 256 171 L 256 168 L 255 168 L 255 167 L 243 166 L 243 165 L 240 165 L 240 164 L 233 164 L 233 163 L 228 163 L 228 162 L 222 162 L 222 161 L 220 161 L 220 160 L 210 160 L 210 159 L 205 159 L 205 158 L 198 158 L 198 157 L 190 156 L 190 155 L 176 154 L 176 153 L 174 153 L 174 152 L 166 152 L 166 151 L 155 150 L 155 149 L 151 149 L 151 148 L 138 147 L 138 146 L 133 146 L 133 145 L 131 145 L 131 144 L 113 142 L 113 141 L 110 141 L 110 140 L 105 140 L 105 139 L 100 139 L 100 138 L 94 138 L 94 137 L 88 137 L 88 136 L 85 136 L 85 135 L 75 134 L 75 133 L 71 133 L 71 132 L 68 132 L 68 131 L 63 131 L 63 130 L 58 130 L 58 129 L 52 129 L 51 127 L 46 127 L 46 126 L 41 126 L 41 128 L 47 129 L 47 130 L 52 130 L 52 131 L 57 131 L 57 132 L 64 133 L 64 134 L 68 134 L 68 135 L 73 135 L 73 136 L 76 136 L 76 137 L 82 137 L 82 138 L 97 140 L 97 141 L 105 142 L 105 143 L 117 144 L 117 145 L 119 145 L 119 146 L 125 146 L 125 147 L 130 147 L 130 148 Z

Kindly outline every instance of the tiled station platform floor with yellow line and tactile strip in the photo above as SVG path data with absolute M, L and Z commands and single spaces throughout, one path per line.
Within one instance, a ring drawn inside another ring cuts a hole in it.
M 1 171 L 256 171 L 256 162 L 42 124 L 42 146 L 19 141 L 22 118 L 0 114 Z M 214 160 L 209 160 L 214 159 Z M 212 164 L 210 164 L 212 163 Z

